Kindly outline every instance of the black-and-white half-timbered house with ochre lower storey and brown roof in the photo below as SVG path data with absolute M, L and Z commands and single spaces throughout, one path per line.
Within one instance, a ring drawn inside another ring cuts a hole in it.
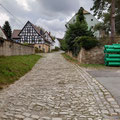
M 44 52 L 50 51 L 52 40 L 46 39 L 44 32 L 28 21 L 22 30 L 14 30 L 12 39 L 22 44 L 30 44 Z

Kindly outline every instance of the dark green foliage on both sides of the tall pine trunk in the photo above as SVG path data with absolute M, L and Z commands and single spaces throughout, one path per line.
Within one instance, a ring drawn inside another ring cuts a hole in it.
M 111 31 L 111 0 L 93 0 L 94 4 L 91 10 L 95 16 L 103 20 L 105 31 Z M 115 26 L 116 33 L 120 35 L 120 0 L 115 0 Z

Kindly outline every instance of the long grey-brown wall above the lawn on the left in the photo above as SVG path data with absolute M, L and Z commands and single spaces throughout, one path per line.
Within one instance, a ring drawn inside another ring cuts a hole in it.
M 35 54 L 34 47 L 25 46 L 0 38 L 0 56 Z

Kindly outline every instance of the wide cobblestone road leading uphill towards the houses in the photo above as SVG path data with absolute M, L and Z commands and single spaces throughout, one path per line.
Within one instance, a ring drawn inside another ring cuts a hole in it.
M 31 72 L 0 92 L 0 120 L 120 120 L 111 94 L 60 53 L 46 54 Z

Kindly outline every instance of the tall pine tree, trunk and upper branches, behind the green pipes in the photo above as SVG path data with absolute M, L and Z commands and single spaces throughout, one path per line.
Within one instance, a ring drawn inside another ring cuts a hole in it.
M 91 10 L 98 18 L 103 18 L 106 11 L 110 14 L 109 22 L 111 29 L 111 43 L 115 42 L 115 17 L 118 15 L 120 9 L 120 0 L 93 0 L 94 5 Z

